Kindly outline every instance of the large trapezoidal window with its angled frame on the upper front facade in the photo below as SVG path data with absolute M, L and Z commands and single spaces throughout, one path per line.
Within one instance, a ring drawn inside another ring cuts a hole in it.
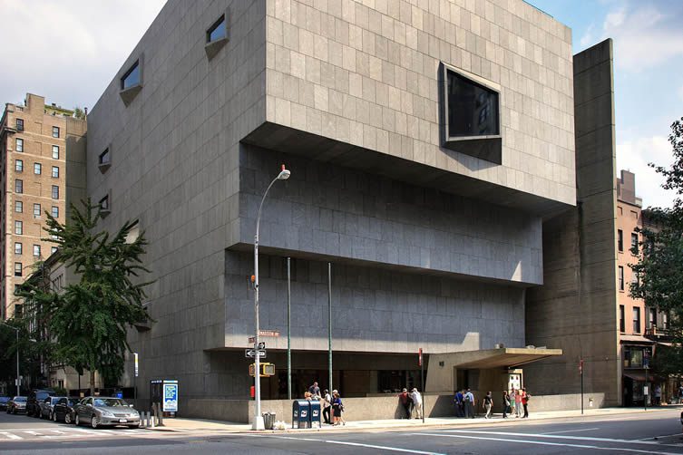
M 501 164 L 499 89 L 445 64 L 443 77 L 444 147 Z

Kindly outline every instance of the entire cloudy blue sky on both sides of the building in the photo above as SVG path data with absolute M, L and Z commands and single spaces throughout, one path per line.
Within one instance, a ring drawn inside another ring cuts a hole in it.
M 15 37 L 5 41 L 0 102 L 32 92 L 65 108 L 92 107 L 164 3 L 0 0 L 0 30 Z M 683 117 L 683 1 L 529 3 L 571 27 L 574 53 L 614 40 L 618 172 L 636 173 L 645 207 L 670 205 L 674 195 L 648 163 L 670 164 L 670 125 Z

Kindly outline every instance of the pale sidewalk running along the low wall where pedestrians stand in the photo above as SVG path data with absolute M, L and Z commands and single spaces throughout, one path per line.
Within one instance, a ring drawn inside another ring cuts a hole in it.
M 649 408 L 648 411 L 644 411 L 641 408 L 601 408 L 601 409 L 587 409 L 584 410 L 583 417 L 596 417 L 596 416 L 612 416 L 620 414 L 633 414 L 633 413 L 649 413 L 649 412 L 661 412 L 661 411 L 672 411 L 680 410 L 683 406 L 680 405 L 669 405 L 659 408 Z M 278 416 L 278 421 L 282 420 L 283 416 Z M 291 416 L 285 416 L 286 420 L 289 420 Z M 568 417 L 581 417 L 581 410 L 577 411 L 545 411 L 545 412 L 532 412 L 530 413 L 529 419 L 524 421 L 543 421 L 551 419 L 563 419 Z M 495 414 L 492 419 L 484 419 L 483 417 L 477 417 L 474 419 L 458 419 L 456 417 L 431 417 L 424 420 L 412 419 L 391 419 L 391 420 L 381 420 L 381 421 L 347 421 L 346 425 L 341 426 L 331 426 L 323 424 L 321 429 L 292 429 L 291 425 L 288 424 L 286 431 L 291 432 L 309 432 L 309 431 L 344 431 L 344 430 L 395 430 L 399 428 L 425 428 L 425 427 L 460 427 L 469 425 L 481 425 L 483 423 L 511 423 L 514 421 L 522 421 L 521 419 L 515 419 L 514 417 L 508 419 L 502 419 L 501 414 Z M 219 431 L 219 432 L 249 432 L 251 430 L 251 425 L 247 423 L 237 423 L 229 421 L 210 421 L 205 419 L 164 419 L 163 427 L 150 428 L 150 431 L 178 431 L 178 432 L 193 432 L 193 431 Z M 271 431 L 271 430 L 267 430 Z M 279 431 L 276 431 L 279 432 Z

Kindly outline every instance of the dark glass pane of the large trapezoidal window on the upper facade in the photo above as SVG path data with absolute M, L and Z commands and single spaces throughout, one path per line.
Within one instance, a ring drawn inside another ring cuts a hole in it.
M 494 136 L 498 125 L 498 93 L 470 81 L 458 73 L 447 72 L 448 135 Z

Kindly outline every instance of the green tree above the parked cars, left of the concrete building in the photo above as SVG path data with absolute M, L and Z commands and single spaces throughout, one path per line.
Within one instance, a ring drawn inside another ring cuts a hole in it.
M 147 241 L 144 233 L 129 240 L 134 226 L 130 221 L 114 236 L 98 231 L 102 213 L 90 200 L 83 203 L 83 211 L 71 208 L 72 218 L 64 225 L 47 213 L 49 237 L 44 240 L 57 245 L 60 263 L 77 281 L 55 292 L 29 279 L 19 295 L 44 312 L 55 359 L 80 374 L 88 369 L 94 393 L 96 371 L 105 382 L 121 377 L 125 352 L 130 351 L 127 329 L 151 319 L 141 305 L 150 283 L 139 278 L 149 273 L 141 261 Z

